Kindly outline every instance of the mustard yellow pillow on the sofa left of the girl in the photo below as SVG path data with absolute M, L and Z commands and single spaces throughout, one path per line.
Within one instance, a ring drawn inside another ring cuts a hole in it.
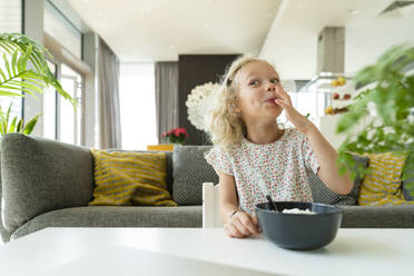
M 91 150 L 93 200 L 89 205 L 177 206 L 166 184 L 164 152 Z

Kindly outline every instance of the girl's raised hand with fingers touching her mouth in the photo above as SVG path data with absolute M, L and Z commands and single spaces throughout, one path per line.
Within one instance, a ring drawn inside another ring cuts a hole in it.
M 290 96 L 283 89 L 280 83 L 276 86 L 276 93 L 282 99 L 275 99 L 275 102 L 285 109 L 286 118 L 302 132 L 306 132 L 312 122 L 302 114 L 299 114 L 293 106 Z

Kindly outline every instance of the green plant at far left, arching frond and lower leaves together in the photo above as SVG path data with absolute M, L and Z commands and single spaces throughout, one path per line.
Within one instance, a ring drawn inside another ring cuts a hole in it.
M 52 86 L 75 108 L 78 106 L 49 70 L 46 60 L 52 56 L 39 42 L 21 33 L 0 33 L 0 49 L 3 51 L 0 57 L 0 97 L 23 97 L 26 93 L 36 97 L 36 93 L 42 93 L 45 88 Z M 26 128 L 22 120 L 16 125 L 17 118 L 9 125 L 10 107 L 6 114 L 1 111 L 1 135 L 14 131 L 30 134 L 39 115 L 30 119 Z

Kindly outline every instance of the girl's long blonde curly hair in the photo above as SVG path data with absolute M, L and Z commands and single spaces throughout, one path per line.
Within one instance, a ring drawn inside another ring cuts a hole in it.
M 208 135 L 211 142 L 225 150 L 240 144 L 246 135 L 246 125 L 234 109 L 238 101 L 238 83 L 235 80 L 237 72 L 249 62 L 265 61 L 250 56 L 236 59 L 227 69 L 215 91 L 214 102 L 206 117 Z M 267 61 L 265 61 L 267 62 Z

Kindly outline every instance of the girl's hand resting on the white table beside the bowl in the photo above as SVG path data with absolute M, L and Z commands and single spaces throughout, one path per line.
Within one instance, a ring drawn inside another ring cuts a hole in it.
M 257 217 L 249 215 L 245 211 L 237 211 L 233 217 L 225 224 L 224 229 L 229 237 L 244 238 L 253 235 L 258 235 Z

